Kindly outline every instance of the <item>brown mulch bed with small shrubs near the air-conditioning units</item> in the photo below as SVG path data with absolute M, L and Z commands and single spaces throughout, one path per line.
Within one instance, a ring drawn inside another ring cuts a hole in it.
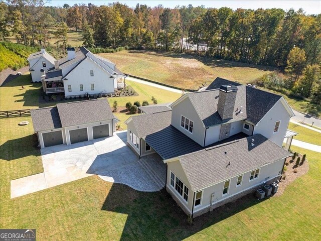
M 298 154 L 298 156 L 302 160 L 302 155 Z M 297 157 L 292 162 L 292 157 L 286 158 L 285 163 L 288 163 L 288 165 L 286 166 L 287 170 L 283 174 L 283 177 L 282 177 L 281 181 L 279 182 L 279 188 L 277 190 L 277 193 L 275 193 L 273 195 L 273 197 L 277 197 L 277 196 L 282 195 L 282 193 L 284 192 L 287 185 L 292 183 L 296 178 L 306 174 L 307 171 L 309 170 L 309 164 L 308 164 L 307 159 L 305 159 L 303 164 L 300 163 L 298 166 L 295 165 L 296 159 L 297 159 Z M 296 173 L 293 172 L 294 169 L 296 170 Z M 285 179 L 283 179 L 284 176 L 285 176 Z

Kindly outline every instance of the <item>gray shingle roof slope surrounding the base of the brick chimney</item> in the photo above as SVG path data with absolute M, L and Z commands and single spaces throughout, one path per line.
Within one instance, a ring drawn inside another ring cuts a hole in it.
M 246 95 L 245 85 L 237 86 L 237 94 L 234 106 L 233 118 L 227 122 L 223 122 L 221 116 L 217 112 L 217 105 L 219 101 L 219 89 L 213 89 L 201 92 L 188 93 L 188 97 L 193 103 L 195 110 L 201 117 L 205 127 L 220 125 L 222 123 L 229 123 L 246 119 Z M 236 111 L 237 108 L 242 107 L 242 113 Z

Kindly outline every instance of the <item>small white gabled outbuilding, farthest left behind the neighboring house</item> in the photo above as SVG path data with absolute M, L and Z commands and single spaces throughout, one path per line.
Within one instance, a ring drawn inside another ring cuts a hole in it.
M 44 48 L 40 52 L 29 55 L 29 71 L 33 82 L 41 82 L 41 76 L 55 66 L 56 59 L 46 52 Z

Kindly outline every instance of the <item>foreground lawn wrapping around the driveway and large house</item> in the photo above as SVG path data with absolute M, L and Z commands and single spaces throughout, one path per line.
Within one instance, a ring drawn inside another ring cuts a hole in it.
M 10 199 L 10 180 L 43 171 L 30 117 L 2 118 L 0 228 L 36 228 L 37 240 L 316 240 L 320 236 L 319 153 L 280 197 L 246 197 L 194 224 L 166 191 L 144 193 L 96 176 Z M 6 127 L 6 128 L 3 128 Z

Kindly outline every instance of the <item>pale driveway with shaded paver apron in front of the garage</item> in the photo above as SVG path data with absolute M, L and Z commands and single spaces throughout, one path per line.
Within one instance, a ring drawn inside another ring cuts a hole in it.
M 126 139 L 127 132 L 123 131 L 114 133 L 113 137 L 42 149 L 44 173 L 12 180 L 11 198 L 93 174 L 106 181 L 123 183 L 139 191 L 162 189 L 165 178 L 154 178 L 148 169 L 143 167 L 141 160 L 139 161 L 126 146 Z M 157 158 L 149 161 L 156 162 L 157 168 L 165 170 L 165 164 L 162 165 Z

